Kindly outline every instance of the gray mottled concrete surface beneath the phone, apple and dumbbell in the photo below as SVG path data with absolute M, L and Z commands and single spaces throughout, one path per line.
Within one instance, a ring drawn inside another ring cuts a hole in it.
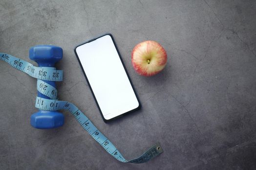
M 32 128 L 36 80 L 0 61 L 0 170 L 255 170 L 255 16 L 255 0 L 1 0 L 1 52 L 32 62 L 31 46 L 62 47 L 60 100 L 83 110 L 126 158 L 157 141 L 164 153 L 146 164 L 118 162 L 65 111 L 63 127 Z M 73 52 L 107 32 L 142 103 L 111 124 Z M 168 64 L 142 77 L 130 54 L 149 39 L 166 49 Z

